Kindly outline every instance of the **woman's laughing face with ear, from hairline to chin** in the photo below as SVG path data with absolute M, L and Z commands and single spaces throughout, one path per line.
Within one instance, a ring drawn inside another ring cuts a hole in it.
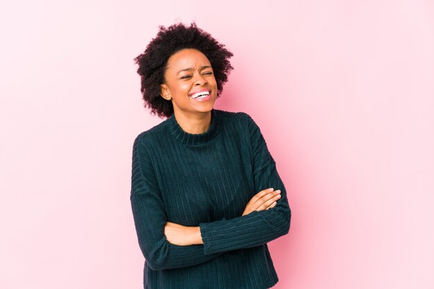
M 171 100 L 175 115 L 208 113 L 217 98 L 217 82 L 208 58 L 196 49 L 183 49 L 169 59 L 161 95 Z

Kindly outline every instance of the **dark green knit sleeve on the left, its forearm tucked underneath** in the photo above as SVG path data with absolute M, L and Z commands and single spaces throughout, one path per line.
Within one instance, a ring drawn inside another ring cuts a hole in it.
M 167 216 L 155 182 L 146 146 L 134 140 L 130 201 L 139 247 L 153 270 L 183 268 L 207 262 L 220 254 L 205 254 L 203 245 L 179 246 L 164 235 Z

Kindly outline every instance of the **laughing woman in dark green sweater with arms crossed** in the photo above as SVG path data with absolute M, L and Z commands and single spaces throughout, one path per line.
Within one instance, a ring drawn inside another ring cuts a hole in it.
M 257 124 L 214 109 L 230 57 L 196 24 L 175 24 L 160 27 L 135 59 L 145 106 L 167 118 L 133 145 L 144 288 L 263 289 L 278 281 L 266 243 L 288 233 L 290 208 Z

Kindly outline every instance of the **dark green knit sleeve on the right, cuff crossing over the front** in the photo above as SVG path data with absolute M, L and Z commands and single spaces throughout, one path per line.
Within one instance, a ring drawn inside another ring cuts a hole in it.
M 281 190 L 281 198 L 272 209 L 254 211 L 245 216 L 210 223 L 200 223 L 205 254 L 216 254 L 241 248 L 252 248 L 287 234 L 290 207 L 286 189 L 277 173 L 275 160 L 257 124 L 248 116 L 253 153 L 254 192 L 272 187 Z

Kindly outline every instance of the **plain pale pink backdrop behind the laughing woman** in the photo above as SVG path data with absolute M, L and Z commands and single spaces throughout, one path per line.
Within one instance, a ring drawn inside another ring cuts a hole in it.
M 0 288 L 142 288 L 133 58 L 197 21 L 234 53 L 293 210 L 275 288 L 434 288 L 434 3 L 0 1 Z

